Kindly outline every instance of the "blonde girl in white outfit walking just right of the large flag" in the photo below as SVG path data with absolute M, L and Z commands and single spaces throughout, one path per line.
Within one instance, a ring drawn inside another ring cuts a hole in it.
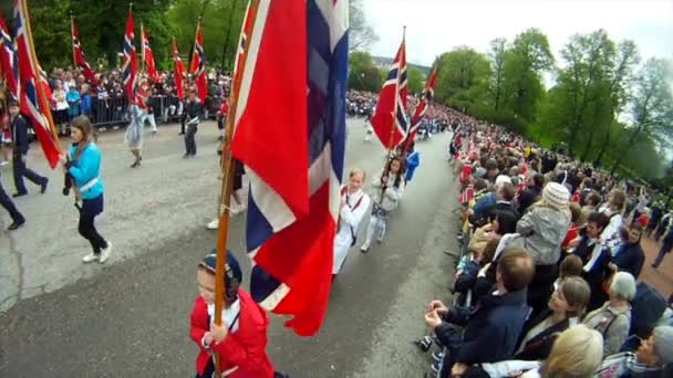
M 341 210 L 339 211 L 339 230 L 334 238 L 332 274 L 339 274 L 349 250 L 355 245 L 358 225 L 370 208 L 370 196 L 362 190 L 364 179 L 364 171 L 355 168 L 349 174 L 349 185 L 341 188 Z

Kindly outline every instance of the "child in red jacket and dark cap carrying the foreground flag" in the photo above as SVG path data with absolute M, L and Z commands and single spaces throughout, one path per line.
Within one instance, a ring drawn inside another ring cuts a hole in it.
M 231 252 L 225 265 L 225 309 L 222 325 L 215 319 L 215 261 L 208 254 L 198 265 L 199 296 L 194 301 L 189 337 L 198 346 L 196 377 L 214 376 L 215 353 L 220 357 L 220 370 L 228 378 L 272 378 L 273 366 L 267 356 L 267 313 L 240 288 L 242 273 Z

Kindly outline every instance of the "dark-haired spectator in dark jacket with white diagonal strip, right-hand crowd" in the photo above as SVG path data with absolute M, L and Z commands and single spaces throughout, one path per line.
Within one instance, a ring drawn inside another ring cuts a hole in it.
M 591 298 L 588 311 L 600 307 L 607 300 L 608 294 L 603 290 L 603 283 L 610 276 L 609 269 L 612 258 L 610 249 L 603 246 L 600 235 L 608 225 L 608 216 L 602 212 L 592 212 L 587 220 L 584 234 L 580 237 L 572 254 L 582 259 L 583 277 L 591 287 Z

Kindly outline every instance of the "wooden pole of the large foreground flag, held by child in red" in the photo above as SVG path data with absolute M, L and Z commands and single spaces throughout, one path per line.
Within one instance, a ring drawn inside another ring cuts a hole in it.
M 250 20 L 255 24 L 257 18 L 257 9 L 259 8 L 259 0 L 250 0 Z M 244 21 L 245 22 L 245 21 Z M 245 32 L 245 31 L 244 31 Z M 252 31 L 248 35 L 248 40 L 252 39 Z M 219 208 L 219 229 L 217 232 L 217 260 L 215 266 L 215 324 L 222 324 L 222 307 L 224 297 L 226 293 L 225 287 L 225 262 L 227 261 L 227 240 L 229 237 L 229 206 L 230 197 L 234 185 L 234 157 L 231 156 L 231 138 L 234 135 L 234 126 L 236 123 L 236 108 L 238 105 L 238 94 L 240 92 L 240 83 L 246 71 L 246 61 L 248 59 L 248 45 L 246 45 L 242 56 L 240 70 L 237 70 L 231 81 L 231 94 L 229 112 L 227 117 L 227 125 L 225 130 L 225 140 L 222 141 L 222 159 L 221 159 L 221 172 L 222 172 L 222 185 L 220 190 L 220 208 Z M 216 377 L 220 376 L 220 361 L 219 355 L 215 358 L 215 374 Z

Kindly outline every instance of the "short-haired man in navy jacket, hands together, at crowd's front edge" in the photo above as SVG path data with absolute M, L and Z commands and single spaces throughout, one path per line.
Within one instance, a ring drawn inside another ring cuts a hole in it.
M 438 364 L 434 365 L 436 371 L 442 371 L 441 377 L 459 375 L 472 365 L 511 356 L 530 311 L 526 287 L 534 274 L 530 254 L 520 248 L 508 248 L 498 262 L 498 290 L 484 297 L 475 312 L 467 315 L 455 307 L 449 311 L 441 301 L 429 304 L 425 323 L 448 350 L 441 369 Z M 457 337 L 449 323 L 464 326 L 462 335 Z

